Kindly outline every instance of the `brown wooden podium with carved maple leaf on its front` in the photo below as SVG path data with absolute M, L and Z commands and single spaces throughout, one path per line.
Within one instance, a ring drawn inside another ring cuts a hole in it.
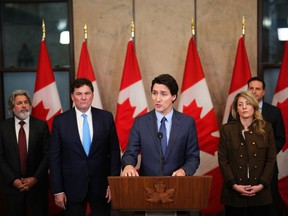
M 108 177 L 112 208 L 193 211 L 207 207 L 212 176 Z

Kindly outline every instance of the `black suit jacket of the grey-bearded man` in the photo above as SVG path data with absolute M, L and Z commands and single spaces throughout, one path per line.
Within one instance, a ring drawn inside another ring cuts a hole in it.
M 25 177 L 35 177 L 38 182 L 32 188 L 33 191 L 42 191 L 46 193 L 47 196 L 50 132 L 45 121 L 33 116 L 30 116 L 29 121 L 27 169 Z M 15 179 L 21 179 L 23 177 L 21 175 L 14 117 L 0 124 L 0 176 L 5 193 L 20 193 L 19 190 L 12 185 Z M 32 189 L 30 191 L 32 191 Z

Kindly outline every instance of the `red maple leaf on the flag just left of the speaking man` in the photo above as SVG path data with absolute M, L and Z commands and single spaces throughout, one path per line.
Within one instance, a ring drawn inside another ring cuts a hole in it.
M 135 112 L 135 109 L 135 106 L 131 106 L 129 98 L 125 100 L 122 104 L 117 104 L 116 129 L 122 152 L 126 150 L 129 139 L 129 132 L 134 122 L 133 114 Z M 141 116 L 147 113 L 147 111 L 148 108 L 145 108 L 137 116 Z

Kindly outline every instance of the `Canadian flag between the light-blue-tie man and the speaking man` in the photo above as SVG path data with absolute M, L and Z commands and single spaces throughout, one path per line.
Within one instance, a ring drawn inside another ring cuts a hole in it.
M 148 112 L 148 103 L 134 50 L 133 40 L 127 45 L 126 59 L 118 96 L 115 124 L 121 151 L 126 150 L 134 118 Z

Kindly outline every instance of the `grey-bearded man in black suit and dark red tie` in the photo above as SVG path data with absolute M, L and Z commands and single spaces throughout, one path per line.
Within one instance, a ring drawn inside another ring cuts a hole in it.
M 0 178 L 8 215 L 48 215 L 48 126 L 30 116 L 31 98 L 25 90 L 12 93 L 8 108 L 13 117 L 0 124 Z M 23 129 L 24 137 L 19 134 Z

